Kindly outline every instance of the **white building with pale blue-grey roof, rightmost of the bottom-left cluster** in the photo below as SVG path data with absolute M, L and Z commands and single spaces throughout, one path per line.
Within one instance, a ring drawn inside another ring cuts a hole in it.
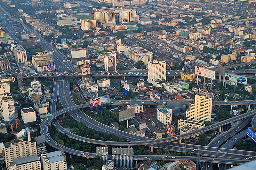
M 41 165 L 43 170 L 55 169 L 66 170 L 67 160 L 64 152 L 55 151 L 50 153 L 41 153 Z

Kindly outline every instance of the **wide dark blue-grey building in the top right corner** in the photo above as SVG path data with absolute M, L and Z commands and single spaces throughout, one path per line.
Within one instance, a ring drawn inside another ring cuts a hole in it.
M 255 17 L 256 0 L 234 0 L 233 11 L 235 15 Z

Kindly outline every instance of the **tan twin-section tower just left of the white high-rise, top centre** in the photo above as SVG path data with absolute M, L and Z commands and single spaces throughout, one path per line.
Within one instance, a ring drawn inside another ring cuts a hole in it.
M 97 26 L 103 23 L 115 23 L 116 13 L 113 11 L 95 11 L 93 17 L 96 20 Z

